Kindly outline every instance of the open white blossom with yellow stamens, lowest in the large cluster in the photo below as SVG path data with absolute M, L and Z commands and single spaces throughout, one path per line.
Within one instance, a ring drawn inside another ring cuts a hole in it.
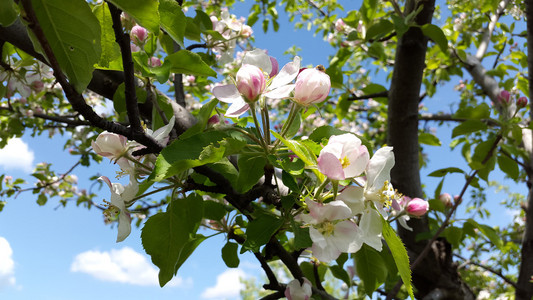
M 309 214 L 299 216 L 309 227 L 309 235 L 313 241 L 313 256 L 323 262 L 337 259 L 343 252 L 355 253 L 362 245 L 362 232 L 352 221 L 351 209 L 340 200 L 323 204 L 310 199 L 305 203 Z

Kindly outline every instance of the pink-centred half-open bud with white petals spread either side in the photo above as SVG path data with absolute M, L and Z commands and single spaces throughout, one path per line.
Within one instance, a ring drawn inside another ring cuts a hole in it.
M 266 87 L 265 75 L 258 67 L 244 64 L 237 72 L 236 84 L 245 100 L 254 102 Z

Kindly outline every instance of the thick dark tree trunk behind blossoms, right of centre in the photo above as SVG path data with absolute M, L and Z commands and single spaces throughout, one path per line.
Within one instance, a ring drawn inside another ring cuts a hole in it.
M 407 1 L 404 14 L 423 6 L 415 21 L 418 25 L 431 23 L 434 0 Z M 418 105 L 425 69 L 428 38 L 419 28 L 411 27 L 398 41 L 394 71 L 389 89 L 388 144 L 394 147 L 396 164 L 391 180 L 399 192 L 409 197 L 423 197 L 419 172 Z M 415 237 L 429 231 L 427 218 L 409 222 L 413 231 L 399 228 L 413 261 L 426 245 Z M 431 266 L 431 267 L 428 267 Z M 452 262 L 450 244 L 439 239 L 424 263 L 413 270 L 413 284 L 420 299 L 474 299 L 470 289 L 460 280 Z

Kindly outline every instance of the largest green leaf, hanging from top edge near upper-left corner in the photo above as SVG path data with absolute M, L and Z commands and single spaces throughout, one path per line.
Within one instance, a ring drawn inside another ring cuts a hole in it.
M 32 4 L 61 69 L 82 93 L 100 60 L 98 19 L 83 0 L 33 0 Z

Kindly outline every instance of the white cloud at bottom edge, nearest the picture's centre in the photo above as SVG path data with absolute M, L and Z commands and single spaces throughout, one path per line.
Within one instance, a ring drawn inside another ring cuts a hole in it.
M 240 278 L 245 277 L 246 273 L 243 270 L 228 269 L 217 276 L 215 286 L 204 290 L 202 298 L 222 300 L 238 297 L 240 291 L 245 288 Z

